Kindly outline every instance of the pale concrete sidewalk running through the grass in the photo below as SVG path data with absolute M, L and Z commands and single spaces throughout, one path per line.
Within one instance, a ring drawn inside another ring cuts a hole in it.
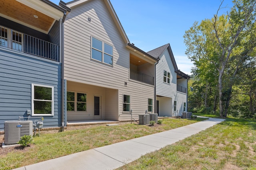
M 15 170 L 113 170 L 224 120 L 208 118 L 184 127 L 46 160 Z

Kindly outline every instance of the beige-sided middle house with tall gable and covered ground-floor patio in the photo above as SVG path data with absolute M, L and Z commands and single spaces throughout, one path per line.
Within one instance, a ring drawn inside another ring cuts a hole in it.
M 74 0 L 67 6 L 72 11 L 64 23 L 68 123 L 154 113 L 158 60 L 129 42 L 109 0 Z

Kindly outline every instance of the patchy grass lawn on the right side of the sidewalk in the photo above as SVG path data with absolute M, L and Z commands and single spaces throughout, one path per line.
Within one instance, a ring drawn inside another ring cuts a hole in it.
M 226 118 L 214 127 L 148 153 L 119 170 L 255 170 L 255 152 L 256 121 Z

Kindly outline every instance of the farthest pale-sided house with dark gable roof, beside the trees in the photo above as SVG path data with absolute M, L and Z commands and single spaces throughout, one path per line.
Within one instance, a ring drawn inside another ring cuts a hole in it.
M 156 65 L 156 113 L 159 116 L 182 116 L 187 111 L 187 80 L 190 76 L 178 70 L 170 44 L 148 54 L 159 59 Z

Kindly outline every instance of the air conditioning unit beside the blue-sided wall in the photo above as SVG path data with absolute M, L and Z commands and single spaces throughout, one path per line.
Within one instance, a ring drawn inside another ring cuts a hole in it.
M 12 145 L 24 135 L 33 135 L 33 121 L 5 121 L 4 144 Z

